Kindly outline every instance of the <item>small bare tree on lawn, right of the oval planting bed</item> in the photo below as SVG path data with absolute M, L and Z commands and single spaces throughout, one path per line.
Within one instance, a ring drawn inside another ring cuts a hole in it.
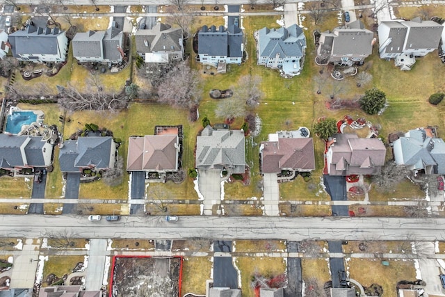
M 259 75 L 243 75 L 238 79 L 238 86 L 234 88 L 234 97 L 245 102 L 248 106 L 257 106 L 263 97 L 263 92 L 259 88 L 261 77 Z

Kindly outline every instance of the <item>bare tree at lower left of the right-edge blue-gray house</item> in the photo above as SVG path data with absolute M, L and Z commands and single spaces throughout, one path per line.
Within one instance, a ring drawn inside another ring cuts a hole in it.
M 373 183 L 377 185 L 378 191 L 388 191 L 400 183 L 407 175 L 409 170 L 405 166 L 397 166 L 394 161 L 389 161 L 382 167 L 380 174 L 373 175 Z

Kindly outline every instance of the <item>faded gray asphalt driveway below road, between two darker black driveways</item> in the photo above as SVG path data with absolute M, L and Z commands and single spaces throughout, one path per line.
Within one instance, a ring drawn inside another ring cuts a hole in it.
M 300 252 L 300 242 L 288 241 L 288 252 Z M 287 287 L 284 288 L 285 297 L 302 296 L 302 269 L 301 258 L 287 258 Z

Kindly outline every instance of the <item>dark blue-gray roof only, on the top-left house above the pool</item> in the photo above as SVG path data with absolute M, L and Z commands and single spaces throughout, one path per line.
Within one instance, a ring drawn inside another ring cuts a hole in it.
M 65 34 L 65 32 L 57 28 L 37 28 L 29 25 L 25 30 L 10 34 L 8 40 L 14 57 L 19 54 L 57 54 L 57 37 L 60 34 Z

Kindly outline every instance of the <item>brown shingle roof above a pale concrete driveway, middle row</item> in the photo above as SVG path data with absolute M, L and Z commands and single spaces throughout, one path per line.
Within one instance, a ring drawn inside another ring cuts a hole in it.
M 315 169 L 312 138 L 278 138 L 278 141 L 264 141 L 261 145 L 264 147 L 261 152 L 261 172 Z

